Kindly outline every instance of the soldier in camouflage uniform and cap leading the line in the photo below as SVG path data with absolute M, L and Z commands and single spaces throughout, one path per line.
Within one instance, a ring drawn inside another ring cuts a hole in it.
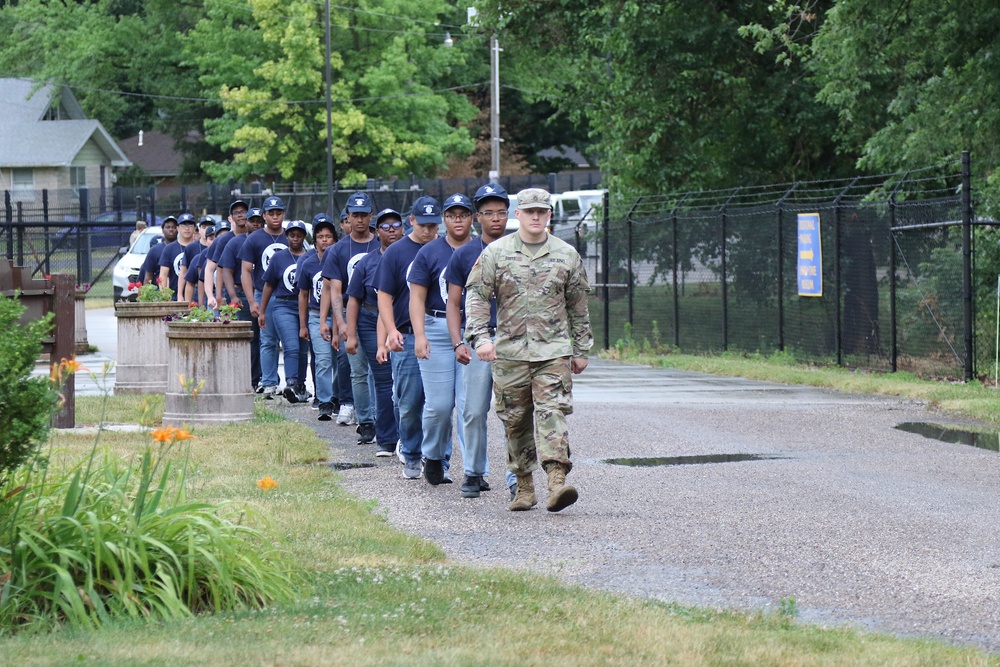
M 587 310 L 590 285 L 580 256 L 547 231 L 549 193 L 517 195 L 516 234 L 486 246 L 466 285 L 465 337 L 482 361 L 493 362 L 497 416 L 507 435 L 507 464 L 517 475 L 511 511 L 534 507 L 532 473 L 548 475 L 546 508 L 577 500 L 566 484 L 572 468 L 566 415 L 573 411 L 573 373 L 587 367 L 594 344 Z M 496 296 L 496 342 L 490 338 L 490 297 Z

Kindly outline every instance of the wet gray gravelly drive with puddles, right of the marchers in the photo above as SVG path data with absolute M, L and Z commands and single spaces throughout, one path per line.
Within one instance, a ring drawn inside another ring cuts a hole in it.
M 403 479 L 353 427 L 286 414 L 330 442 L 330 460 L 373 464 L 343 484 L 457 562 L 555 574 L 682 604 L 774 608 L 800 618 L 1000 650 L 1000 455 L 894 427 L 960 423 L 913 401 L 594 360 L 570 417 L 576 505 L 506 509 L 500 425 L 478 499 Z M 610 458 L 775 458 L 633 467 Z

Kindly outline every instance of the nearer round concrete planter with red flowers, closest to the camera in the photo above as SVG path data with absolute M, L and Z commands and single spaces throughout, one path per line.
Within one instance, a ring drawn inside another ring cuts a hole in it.
M 213 426 L 253 419 L 252 338 L 250 322 L 167 323 L 163 423 Z

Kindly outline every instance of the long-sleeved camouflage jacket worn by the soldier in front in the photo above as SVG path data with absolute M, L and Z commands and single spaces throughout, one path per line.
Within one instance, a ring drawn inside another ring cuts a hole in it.
M 585 357 L 594 344 L 580 255 L 551 234 L 534 257 L 518 234 L 486 246 L 466 284 L 465 337 L 475 348 L 490 338 L 490 297 L 497 300 L 500 359 Z

